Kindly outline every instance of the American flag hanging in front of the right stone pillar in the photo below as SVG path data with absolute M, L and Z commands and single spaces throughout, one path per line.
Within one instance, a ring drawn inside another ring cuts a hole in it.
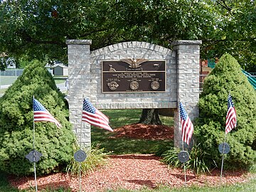
M 186 113 L 186 110 L 184 109 L 181 102 L 179 102 L 179 105 L 181 117 L 181 139 L 189 145 L 193 134 L 193 124 L 191 122 L 191 119 L 189 119 L 188 114 Z

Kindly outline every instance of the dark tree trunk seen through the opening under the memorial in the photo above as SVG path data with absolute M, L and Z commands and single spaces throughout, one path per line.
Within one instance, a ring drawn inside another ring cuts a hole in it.
M 143 109 L 142 117 L 139 119 L 139 123 L 142 124 L 158 124 L 161 125 L 159 118 L 159 110 L 156 109 Z

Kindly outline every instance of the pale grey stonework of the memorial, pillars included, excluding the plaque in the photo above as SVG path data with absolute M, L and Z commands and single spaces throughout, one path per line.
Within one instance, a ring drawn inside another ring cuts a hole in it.
M 199 45 L 201 41 L 176 41 L 174 50 L 146 42 L 124 42 L 90 51 L 90 40 L 68 40 L 70 122 L 78 141 L 90 146 L 90 124 L 81 122 L 82 100 L 97 109 L 176 109 L 175 144 L 179 140 L 178 99 L 191 119 L 198 117 Z M 102 93 L 102 60 L 144 58 L 166 61 L 166 92 Z M 111 119 L 111 117 L 110 117 Z

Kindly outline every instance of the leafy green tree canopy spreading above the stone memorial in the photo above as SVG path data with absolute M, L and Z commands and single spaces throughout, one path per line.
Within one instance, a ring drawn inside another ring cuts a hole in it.
M 172 41 L 191 39 L 203 41 L 203 58 L 220 58 L 228 52 L 242 68 L 255 70 L 255 4 L 250 0 L 1 1 L 0 53 L 66 63 L 66 39 L 92 39 L 93 50 L 124 41 L 171 48 Z

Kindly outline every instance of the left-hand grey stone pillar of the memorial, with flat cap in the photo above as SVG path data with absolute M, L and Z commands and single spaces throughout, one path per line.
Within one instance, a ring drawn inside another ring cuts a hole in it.
M 78 143 L 91 146 L 90 124 L 82 122 L 82 101 L 90 97 L 91 40 L 67 40 L 68 45 L 68 103 L 70 123 Z

